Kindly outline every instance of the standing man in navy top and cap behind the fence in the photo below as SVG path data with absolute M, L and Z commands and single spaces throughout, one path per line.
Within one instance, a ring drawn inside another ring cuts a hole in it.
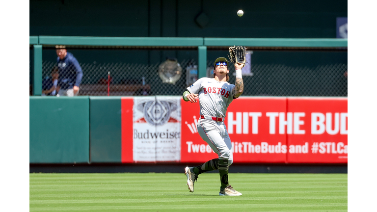
M 82 70 L 72 53 L 63 45 L 57 45 L 57 67 L 59 68 L 60 90 L 58 96 L 77 96 L 80 90 Z

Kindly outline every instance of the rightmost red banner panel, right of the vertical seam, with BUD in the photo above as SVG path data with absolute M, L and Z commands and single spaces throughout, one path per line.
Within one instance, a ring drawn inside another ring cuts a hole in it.
M 347 163 L 347 98 L 288 98 L 288 163 Z

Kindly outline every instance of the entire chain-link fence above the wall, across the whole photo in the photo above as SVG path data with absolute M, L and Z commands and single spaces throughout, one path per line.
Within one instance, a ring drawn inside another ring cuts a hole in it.
M 182 95 L 191 83 L 188 74 L 197 66 L 192 60 L 178 61 L 181 72 L 175 83 L 165 83 L 159 76 L 158 64 L 80 63 L 83 77 L 79 95 L 134 96 Z M 213 70 L 208 61 L 207 72 Z M 56 61 L 44 61 L 42 78 L 51 77 Z M 243 76 L 242 96 L 342 96 L 348 95 L 347 64 L 335 63 L 317 67 L 285 64 L 251 64 L 251 76 Z M 31 61 L 30 61 L 30 82 Z M 235 82 L 234 66 L 229 67 L 229 82 Z M 210 76 L 208 74 L 207 76 Z M 30 94 L 31 95 L 31 94 Z

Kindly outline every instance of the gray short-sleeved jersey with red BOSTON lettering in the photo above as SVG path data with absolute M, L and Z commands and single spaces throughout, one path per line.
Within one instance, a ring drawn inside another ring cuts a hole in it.
M 235 86 L 215 78 L 200 78 L 187 89 L 199 95 L 200 115 L 225 117 L 226 109 L 233 101 Z

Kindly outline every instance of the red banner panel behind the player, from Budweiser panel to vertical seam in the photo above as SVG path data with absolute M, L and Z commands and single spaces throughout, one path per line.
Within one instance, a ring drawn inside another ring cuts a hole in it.
M 217 155 L 196 132 L 193 116 L 199 116 L 199 103 L 182 102 L 182 162 L 205 162 Z M 240 97 L 230 104 L 225 118 L 232 141 L 234 162 L 284 163 L 286 135 L 276 133 L 278 122 L 271 115 L 287 110 L 286 98 Z M 191 128 L 194 129 L 194 133 Z M 272 132 L 273 131 L 273 132 Z M 272 133 L 271 133 L 272 132 Z

